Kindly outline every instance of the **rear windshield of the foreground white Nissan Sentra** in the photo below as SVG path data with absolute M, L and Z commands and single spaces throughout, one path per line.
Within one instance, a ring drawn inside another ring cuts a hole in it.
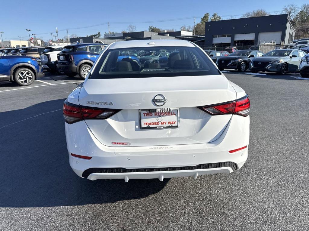
M 111 49 L 98 60 L 91 79 L 145 78 L 194 75 L 220 75 L 212 61 L 197 47 L 140 47 Z M 159 58 L 169 50 L 167 65 Z M 145 57 L 145 58 L 144 58 Z

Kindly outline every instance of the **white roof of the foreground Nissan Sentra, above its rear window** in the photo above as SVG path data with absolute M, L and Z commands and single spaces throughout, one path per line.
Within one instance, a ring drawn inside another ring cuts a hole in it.
M 109 49 L 132 47 L 195 47 L 193 43 L 178 39 L 129 40 L 112 43 Z

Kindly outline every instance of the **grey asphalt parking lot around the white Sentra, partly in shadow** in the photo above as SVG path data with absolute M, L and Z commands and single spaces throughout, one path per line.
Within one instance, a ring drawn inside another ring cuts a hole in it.
M 162 182 L 71 170 L 61 110 L 81 79 L 1 83 L 0 230 L 308 230 L 309 80 L 224 74 L 252 104 L 247 162 L 229 175 Z

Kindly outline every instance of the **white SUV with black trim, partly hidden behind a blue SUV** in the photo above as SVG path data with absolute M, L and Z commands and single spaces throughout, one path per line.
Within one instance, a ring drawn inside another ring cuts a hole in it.
M 57 54 L 62 51 L 64 45 L 46 47 L 40 55 L 43 67 L 50 73 L 60 72 L 57 69 Z

